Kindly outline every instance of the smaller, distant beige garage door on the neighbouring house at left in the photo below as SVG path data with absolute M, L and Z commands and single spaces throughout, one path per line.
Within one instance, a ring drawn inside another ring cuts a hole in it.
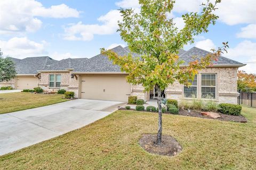
M 17 89 L 34 89 L 38 86 L 38 79 L 35 77 L 18 77 L 17 78 Z

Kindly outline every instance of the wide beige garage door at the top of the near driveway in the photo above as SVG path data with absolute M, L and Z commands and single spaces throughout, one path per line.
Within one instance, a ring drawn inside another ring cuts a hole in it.
M 86 75 L 81 77 L 81 98 L 128 101 L 131 84 L 124 75 Z

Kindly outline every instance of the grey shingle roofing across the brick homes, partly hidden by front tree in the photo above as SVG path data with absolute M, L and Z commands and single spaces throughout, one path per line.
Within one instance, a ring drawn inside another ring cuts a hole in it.
M 120 56 L 128 55 L 131 51 L 128 47 L 117 46 L 113 49 Z M 188 65 L 189 62 L 206 56 L 210 52 L 206 50 L 193 47 L 188 51 L 179 50 L 179 60 L 184 61 L 183 65 Z M 139 57 L 138 54 L 132 53 L 133 57 Z M 18 74 L 36 74 L 37 71 L 63 71 L 73 69 L 73 72 L 121 72 L 118 65 L 114 65 L 109 61 L 108 57 L 99 54 L 92 58 L 67 58 L 61 61 L 53 60 L 49 56 L 43 57 L 27 57 L 22 60 L 11 58 L 16 64 Z M 183 66 L 182 65 L 182 66 Z M 243 63 L 230 60 L 229 58 L 220 56 L 218 61 L 214 61 L 213 66 L 230 66 L 240 67 Z

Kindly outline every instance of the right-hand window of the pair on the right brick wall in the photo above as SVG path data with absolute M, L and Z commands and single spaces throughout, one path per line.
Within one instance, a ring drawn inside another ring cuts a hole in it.
M 215 99 L 216 74 L 202 74 L 201 93 L 204 99 Z

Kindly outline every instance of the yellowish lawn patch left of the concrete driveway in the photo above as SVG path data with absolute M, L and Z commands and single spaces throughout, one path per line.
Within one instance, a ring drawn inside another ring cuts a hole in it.
M 0 94 L 0 114 L 22 111 L 29 108 L 52 105 L 67 101 L 63 95 L 33 94 L 30 92 L 13 92 Z

